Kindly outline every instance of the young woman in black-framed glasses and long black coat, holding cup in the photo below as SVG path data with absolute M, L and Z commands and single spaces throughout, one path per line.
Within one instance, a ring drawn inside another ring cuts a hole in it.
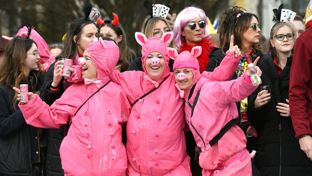
M 251 95 L 247 116 L 259 132 L 257 162 L 261 175 L 311 175 L 312 161 L 300 149 L 289 109 L 289 79 L 296 30 L 279 22 L 271 29 L 269 53 L 258 64 L 260 86 Z M 300 68 L 291 68 L 300 69 Z M 298 75 L 299 76 L 299 75 Z

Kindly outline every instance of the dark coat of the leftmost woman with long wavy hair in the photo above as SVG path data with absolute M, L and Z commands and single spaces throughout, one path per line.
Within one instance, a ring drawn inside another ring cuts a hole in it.
M 36 73 L 32 71 L 27 78 L 29 92 L 42 92 L 43 75 L 37 78 Z M 14 95 L 13 89 L 0 85 L 0 175 L 31 175 L 32 162 L 42 160 L 39 145 L 46 145 L 46 136 L 44 132 L 39 136 L 37 127 L 27 125 L 18 102 L 14 110 Z

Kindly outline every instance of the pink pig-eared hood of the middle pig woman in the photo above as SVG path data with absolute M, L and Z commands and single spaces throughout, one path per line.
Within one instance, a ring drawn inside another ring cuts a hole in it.
M 149 76 L 149 74 L 145 70 L 145 60 L 147 56 L 152 52 L 159 52 L 160 54 L 163 55 L 166 64 L 165 64 L 165 69 L 163 71 L 163 75 L 158 80 L 162 80 L 165 77 L 167 77 L 170 73 L 170 69 L 168 66 L 169 57 L 167 55 L 166 48 L 167 48 L 167 44 L 170 43 L 173 39 L 173 31 L 163 34 L 160 40 L 156 37 L 151 37 L 147 39 L 144 34 L 140 32 L 136 32 L 135 39 L 142 46 L 142 66 L 146 75 L 150 79 L 153 79 Z

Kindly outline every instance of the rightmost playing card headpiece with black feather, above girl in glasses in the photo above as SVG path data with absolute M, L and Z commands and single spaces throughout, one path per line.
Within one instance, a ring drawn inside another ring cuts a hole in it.
M 296 13 L 288 10 L 288 9 L 284 9 L 284 5 L 280 4 L 280 7 L 278 9 L 273 9 L 273 20 L 274 22 L 287 22 L 287 23 L 292 23 L 292 21 L 294 20 Z

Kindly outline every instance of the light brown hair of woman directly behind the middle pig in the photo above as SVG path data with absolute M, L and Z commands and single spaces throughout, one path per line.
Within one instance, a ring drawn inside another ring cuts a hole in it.
M 153 17 L 151 18 L 151 16 L 147 16 L 144 19 L 144 22 L 142 24 L 142 29 L 141 29 L 141 33 L 143 33 L 147 39 L 153 37 L 154 35 L 154 26 L 155 23 L 157 23 L 159 20 L 163 21 L 166 23 L 166 25 L 168 26 L 168 28 L 172 31 L 172 28 L 170 28 L 170 25 L 168 23 L 168 21 L 163 18 L 163 17 Z M 171 48 L 176 48 L 175 42 L 174 42 L 174 38 L 172 39 L 170 46 Z

